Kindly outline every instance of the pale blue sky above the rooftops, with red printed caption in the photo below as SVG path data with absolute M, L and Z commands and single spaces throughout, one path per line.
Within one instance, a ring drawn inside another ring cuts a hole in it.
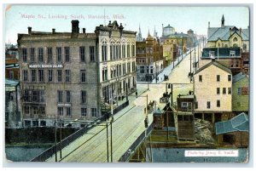
M 104 20 L 104 11 L 106 20 Z M 71 31 L 71 20 L 79 20 L 80 29 L 94 32 L 96 26 L 108 25 L 108 21 L 117 20 L 125 30 L 138 31 L 139 25 L 143 37 L 148 30 L 153 35 L 154 27 L 158 36 L 162 34 L 162 24 L 170 24 L 177 32 L 189 29 L 200 35 L 207 35 L 210 26 L 219 27 L 224 14 L 225 25 L 247 28 L 249 9 L 241 7 L 189 7 L 189 6 L 67 6 L 67 5 L 8 5 L 5 9 L 5 43 L 16 43 L 18 33 L 32 31 Z

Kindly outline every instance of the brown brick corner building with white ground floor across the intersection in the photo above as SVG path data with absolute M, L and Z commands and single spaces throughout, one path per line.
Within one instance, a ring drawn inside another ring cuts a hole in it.
M 143 42 L 137 42 L 137 81 L 151 82 L 164 69 L 163 47 L 159 41 L 148 37 Z

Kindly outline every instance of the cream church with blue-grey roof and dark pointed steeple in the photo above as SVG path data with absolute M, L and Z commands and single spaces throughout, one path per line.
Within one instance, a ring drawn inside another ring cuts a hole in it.
M 238 29 L 236 26 L 225 26 L 224 15 L 222 16 L 220 27 L 210 27 L 210 22 L 208 22 L 208 48 L 240 47 L 242 52 L 248 52 L 249 37 L 249 27 L 246 29 Z

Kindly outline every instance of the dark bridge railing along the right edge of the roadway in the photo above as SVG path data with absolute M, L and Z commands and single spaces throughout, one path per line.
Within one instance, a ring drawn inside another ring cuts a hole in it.
M 153 123 L 150 124 L 150 126 L 147 128 L 147 135 L 150 134 L 150 132 L 153 130 Z M 137 140 L 135 140 L 129 150 L 125 151 L 125 154 L 123 154 L 122 157 L 119 158 L 119 162 L 127 162 L 127 160 L 131 157 L 131 152 L 136 151 L 137 146 L 141 145 L 143 140 L 145 139 L 145 133 L 143 132 Z

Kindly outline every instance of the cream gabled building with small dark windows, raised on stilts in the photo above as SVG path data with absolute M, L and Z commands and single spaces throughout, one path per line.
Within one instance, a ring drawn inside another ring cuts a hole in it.
M 232 114 L 232 74 L 229 68 L 212 60 L 195 71 L 195 117 L 212 123 Z

